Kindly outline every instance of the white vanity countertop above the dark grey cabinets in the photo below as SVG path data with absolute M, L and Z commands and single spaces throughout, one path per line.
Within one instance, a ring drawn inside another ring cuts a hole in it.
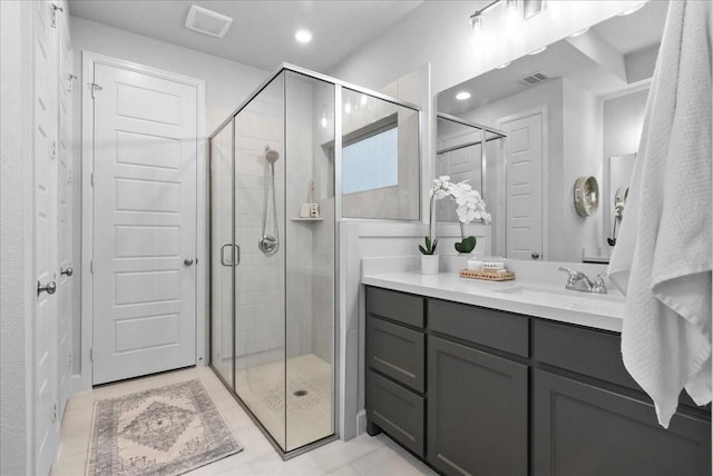
M 485 281 L 461 278 L 458 272 L 421 275 L 418 271 L 364 274 L 369 286 L 437 299 L 482 306 L 597 329 L 622 331 L 624 297 L 566 290 L 541 280 Z

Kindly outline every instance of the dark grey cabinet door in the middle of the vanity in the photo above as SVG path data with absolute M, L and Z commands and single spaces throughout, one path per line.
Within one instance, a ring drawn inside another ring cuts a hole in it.
M 428 338 L 428 460 L 449 475 L 527 474 L 528 367 Z

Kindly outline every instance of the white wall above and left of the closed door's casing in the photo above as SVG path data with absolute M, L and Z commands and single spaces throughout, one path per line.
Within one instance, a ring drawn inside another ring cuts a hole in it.
M 206 85 L 206 136 L 223 122 L 224 119 L 243 102 L 263 80 L 268 76 L 267 71 L 228 61 L 211 54 L 169 44 L 86 19 L 71 18 L 71 37 L 75 49 L 75 71 L 80 78 L 76 82 L 74 110 L 81 111 L 81 95 L 90 78 L 81 78 L 81 51 L 105 54 L 117 59 L 136 62 L 139 65 L 158 68 L 203 79 Z M 74 173 L 75 184 L 81 184 L 81 117 L 75 115 L 75 156 Z M 76 187 L 74 197 L 75 220 L 74 236 L 81 236 L 81 189 Z M 198 219 L 206 210 L 198 210 Z M 81 256 L 81 242 L 76 240 L 75 259 L 79 261 Z M 75 309 L 80 309 L 81 274 L 76 267 L 75 281 Z M 202 316 L 199 316 L 202 317 Z M 74 323 L 75 374 L 80 369 L 80 333 L 81 316 L 77 313 Z M 85 376 L 85 379 L 87 377 Z

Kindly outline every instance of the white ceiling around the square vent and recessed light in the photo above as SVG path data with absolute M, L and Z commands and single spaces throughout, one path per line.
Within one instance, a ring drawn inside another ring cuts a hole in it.
M 282 62 L 329 72 L 362 44 L 380 36 L 422 0 L 69 0 L 69 11 L 121 30 L 208 54 L 273 70 Z M 198 4 L 233 18 L 223 39 L 184 27 Z M 294 32 L 306 28 L 310 43 Z

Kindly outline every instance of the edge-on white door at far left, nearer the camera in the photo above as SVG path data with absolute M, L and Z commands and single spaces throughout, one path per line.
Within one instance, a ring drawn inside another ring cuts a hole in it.
M 35 3 L 35 473 L 49 474 L 57 415 L 57 30 L 48 1 Z M 43 290 L 40 291 L 40 287 Z M 3 316 L 4 318 L 4 316 Z

